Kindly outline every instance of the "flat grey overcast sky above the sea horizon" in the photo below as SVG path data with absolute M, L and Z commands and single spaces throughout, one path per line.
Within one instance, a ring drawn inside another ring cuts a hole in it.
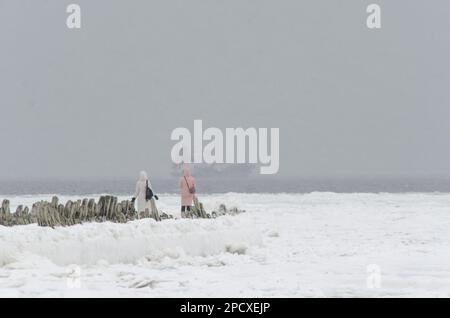
M 281 176 L 450 176 L 449 16 L 445 0 L 0 0 L 0 178 L 164 176 L 194 119 L 279 127 Z

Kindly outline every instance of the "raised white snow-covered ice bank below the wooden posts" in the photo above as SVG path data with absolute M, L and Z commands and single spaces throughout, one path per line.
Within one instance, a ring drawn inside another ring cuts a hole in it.
M 159 261 L 166 257 L 244 253 L 251 245 L 260 244 L 261 237 L 251 224 L 231 216 L 214 220 L 86 223 L 55 229 L 35 224 L 0 226 L 0 266 L 30 256 L 47 258 L 57 265 L 135 263 L 143 258 Z

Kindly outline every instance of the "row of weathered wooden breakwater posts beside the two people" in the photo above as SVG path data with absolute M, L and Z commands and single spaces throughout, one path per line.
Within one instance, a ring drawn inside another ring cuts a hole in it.
M 154 200 L 154 199 L 152 199 Z M 3 200 L 0 208 L 0 225 L 14 226 L 37 223 L 40 226 L 70 226 L 85 222 L 117 222 L 125 223 L 141 218 L 153 218 L 156 221 L 173 218 L 172 215 L 159 211 L 152 202 L 152 211 L 138 213 L 131 201 L 120 201 L 115 196 L 101 196 L 98 202 L 95 199 L 83 199 L 59 203 L 58 197 L 53 197 L 51 202 L 39 201 L 33 204 L 31 210 L 19 205 L 15 213 L 10 211 L 9 200 Z M 194 206 L 191 212 L 186 214 L 189 218 L 215 218 L 224 214 L 243 212 L 237 208 L 227 209 L 220 205 L 217 211 L 207 213 L 203 204 L 194 197 Z

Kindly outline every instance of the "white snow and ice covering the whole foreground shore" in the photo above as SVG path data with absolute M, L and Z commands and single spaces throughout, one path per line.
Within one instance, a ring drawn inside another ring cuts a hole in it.
M 15 209 L 49 198 L 9 199 Z M 450 194 L 201 200 L 207 209 L 227 203 L 247 212 L 54 230 L 0 226 L 0 297 L 450 296 Z M 177 196 L 158 203 L 179 215 Z

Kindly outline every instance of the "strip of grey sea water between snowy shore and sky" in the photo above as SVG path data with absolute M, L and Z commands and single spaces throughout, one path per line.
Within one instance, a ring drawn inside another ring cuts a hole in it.
M 178 193 L 178 178 L 151 179 L 156 193 Z M 34 194 L 134 193 L 132 178 L 0 180 L 0 196 Z M 309 193 L 309 192 L 450 192 L 448 178 L 197 178 L 198 193 Z

